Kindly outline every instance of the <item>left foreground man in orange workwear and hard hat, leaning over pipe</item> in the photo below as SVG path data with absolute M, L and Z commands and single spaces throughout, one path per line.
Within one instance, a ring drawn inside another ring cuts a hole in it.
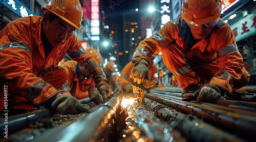
M 58 67 L 66 53 L 89 71 L 103 98 L 112 90 L 100 66 L 74 34 L 81 26 L 80 2 L 51 0 L 42 11 L 46 12 L 43 17 L 16 19 L 0 32 L 0 110 L 12 109 L 9 115 L 15 115 L 44 105 L 64 114 L 86 112 L 88 108 L 75 97 L 58 91 L 67 80 L 65 69 Z M 3 86 L 8 87 L 8 94 Z

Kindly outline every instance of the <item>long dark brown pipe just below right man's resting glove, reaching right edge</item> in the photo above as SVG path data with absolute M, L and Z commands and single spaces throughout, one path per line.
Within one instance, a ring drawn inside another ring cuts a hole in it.
M 145 94 L 145 97 L 172 107 L 173 109 L 177 109 L 183 113 L 192 113 L 195 116 L 202 117 L 204 121 L 209 121 L 210 123 L 222 128 L 229 128 L 230 131 L 239 131 L 249 137 L 255 137 L 255 116 L 242 115 L 237 112 L 207 107 L 192 102 L 156 97 L 151 94 Z

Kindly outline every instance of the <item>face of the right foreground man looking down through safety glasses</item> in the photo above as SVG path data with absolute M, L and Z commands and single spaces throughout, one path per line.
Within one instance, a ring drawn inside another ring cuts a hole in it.
M 208 36 L 214 26 L 207 27 L 205 24 L 193 25 L 188 24 L 190 31 L 195 39 L 204 39 Z

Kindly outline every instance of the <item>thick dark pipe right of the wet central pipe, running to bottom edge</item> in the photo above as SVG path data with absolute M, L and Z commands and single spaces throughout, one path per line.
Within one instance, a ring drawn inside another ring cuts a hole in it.
M 155 116 L 166 121 L 190 141 L 243 141 L 221 129 L 204 123 L 202 120 L 176 111 L 158 102 L 145 99 L 145 108 L 153 111 Z M 189 141 L 188 140 L 188 141 Z

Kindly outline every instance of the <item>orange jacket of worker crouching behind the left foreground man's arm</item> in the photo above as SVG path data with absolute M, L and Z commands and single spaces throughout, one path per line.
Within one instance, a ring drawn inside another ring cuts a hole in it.
M 68 74 L 67 81 L 59 89 L 61 93 L 67 91 L 77 99 L 87 98 L 92 93 L 99 94 L 89 74 L 84 75 L 83 79 L 79 81 L 80 69 L 76 61 L 67 61 L 63 63 L 61 67 L 63 67 Z

